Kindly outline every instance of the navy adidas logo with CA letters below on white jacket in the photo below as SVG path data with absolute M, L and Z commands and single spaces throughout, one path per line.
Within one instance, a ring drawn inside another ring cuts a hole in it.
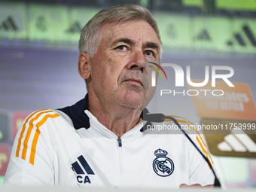
M 72 163 L 72 170 L 78 174 L 78 183 L 90 184 L 90 178 L 88 175 L 95 175 L 82 155 L 78 157 L 78 161 Z M 87 173 L 87 175 L 85 175 L 85 172 Z

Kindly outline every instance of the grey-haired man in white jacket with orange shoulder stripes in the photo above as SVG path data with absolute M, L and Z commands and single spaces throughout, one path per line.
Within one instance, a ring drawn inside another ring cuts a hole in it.
M 143 134 L 154 95 L 143 59 L 160 59 L 150 12 L 114 6 L 81 32 L 78 71 L 88 94 L 71 107 L 35 111 L 17 133 L 7 184 L 83 187 L 207 186 L 214 176 L 184 136 Z

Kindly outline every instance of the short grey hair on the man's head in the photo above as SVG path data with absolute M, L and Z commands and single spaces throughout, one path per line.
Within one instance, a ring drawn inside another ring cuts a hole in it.
M 102 9 L 84 26 L 79 40 L 80 53 L 90 53 L 91 56 L 96 53 L 105 23 L 122 23 L 128 20 L 144 20 L 154 29 L 161 42 L 157 22 L 147 8 L 139 5 L 117 5 Z

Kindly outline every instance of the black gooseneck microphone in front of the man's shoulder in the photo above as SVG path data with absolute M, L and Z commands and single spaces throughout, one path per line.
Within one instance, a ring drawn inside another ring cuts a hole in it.
M 163 122 L 166 119 L 170 119 L 172 120 L 177 126 L 178 128 L 181 130 L 182 133 L 184 133 L 184 135 L 187 137 L 187 139 L 192 143 L 192 145 L 194 145 L 194 147 L 197 149 L 197 151 L 200 152 L 200 154 L 202 155 L 203 159 L 206 160 L 206 162 L 209 164 L 209 166 L 212 169 L 212 164 L 209 162 L 209 160 L 206 158 L 206 156 L 203 155 L 202 151 L 200 151 L 199 148 L 197 148 L 197 145 L 192 141 L 192 139 L 190 139 L 190 136 L 187 135 L 187 133 L 181 129 L 181 125 L 178 123 L 177 120 L 175 120 L 175 118 L 173 117 L 166 117 L 164 114 L 143 114 L 142 117 L 143 120 L 149 121 L 149 122 L 156 122 L 156 123 L 160 123 Z M 214 186 L 215 187 L 221 187 L 221 183 L 218 180 L 217 175 L 215 174 L 215 171 L 212 169 L 212 173 L 213 175 L 215 175 L 215 183 Z

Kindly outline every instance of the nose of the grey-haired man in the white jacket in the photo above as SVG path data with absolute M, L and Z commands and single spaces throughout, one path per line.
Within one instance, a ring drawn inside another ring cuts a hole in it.
M 134 52 L 131 55 L 131 61 L 128 65 L 129 69 L 139 69 L 143 72 L 143 62 L 145 59 L 145 54 L 142 52 L 142 50 L 136 50 L 136 52 Z

